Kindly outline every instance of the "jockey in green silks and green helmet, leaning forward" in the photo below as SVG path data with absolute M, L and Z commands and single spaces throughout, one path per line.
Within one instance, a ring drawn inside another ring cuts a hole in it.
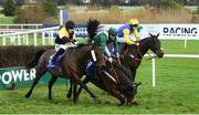
M 113 62 L 113 58 L 107 49 L 107 44 L 113 43 L 115 52 L 117 52 L 118 45 L 116 41 L 116 35 L 117 35 L 117 30 L 115 28 L 109 28 L 108 31 L 100 32 L 93 38 L 94 43 L 101 45 L 102 52 L 111 63 Z M 119 54 L 116 53 L 116 56 L 119 58 Z

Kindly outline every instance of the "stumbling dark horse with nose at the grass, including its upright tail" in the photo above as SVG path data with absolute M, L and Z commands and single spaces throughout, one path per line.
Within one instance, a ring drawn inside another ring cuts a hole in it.
M 97 20 L 90 20 L 87 24 L 87 32 L 88 32 L 88 43 L 92 42 L 92 38 L 95 36 L 100 22 Z M 96 76 L 87 75 L 84 80 L 84 83 L 92 82 L 97 87 L 107 91 L 111 95 L 118 98 L 121 105 L 124 105 L 125 100 L 127 100 L 126 104 L 132 105 L 134 96 L 137 92 L 137 86 L 139 84 L 134 83 L 129 80 L 130 75 L 124 73 L 117 64 L 108 64 L 106 62 L 105 70 L 96 72 Z M 128 76 L 127 76 L 128 75 Z M 82 87 L 77 92 L 77 97 L 81 92 Z M 76 87 L 73 87 L 73 82 L 71 82 L 71 87 L 67 93 L 67 97 L 72 96 L 72 91 L 76 92 Z M 73 95 L 74 96 L 74 95 Z M 125 97 L 123 97 L 125 96 Z

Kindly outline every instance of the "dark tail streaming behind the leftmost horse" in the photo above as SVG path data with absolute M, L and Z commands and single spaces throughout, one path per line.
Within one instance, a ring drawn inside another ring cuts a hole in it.
M 38 61 L 40 60 L 41 55 L 45 52 L 44 49 L 38 51 L 34 55 L 34 59 L 30 61 L 27 65 L 25 69 L 30 70 L 31 67 L 34 67 L 38 64 Z

